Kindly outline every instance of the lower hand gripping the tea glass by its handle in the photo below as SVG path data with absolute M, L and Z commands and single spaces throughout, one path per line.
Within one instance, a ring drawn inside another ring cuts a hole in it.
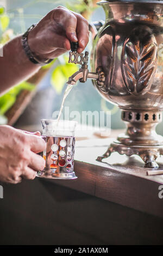
M 36 153 L 46 148 L 39 133 L 25 133 L 8 125 L 0 126 L 0 180 L 16 184 L 34 179 L 45 160 Z

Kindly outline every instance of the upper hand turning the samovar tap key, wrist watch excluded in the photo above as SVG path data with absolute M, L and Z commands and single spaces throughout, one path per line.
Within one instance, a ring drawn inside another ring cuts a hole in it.
M 65 7 L 50 11 L 30 31 L 28 44 L 39 59 L 53 59 L 70 50 L 70 41 L 79 42 L 81 53 L 89 41 L 88 22 Z

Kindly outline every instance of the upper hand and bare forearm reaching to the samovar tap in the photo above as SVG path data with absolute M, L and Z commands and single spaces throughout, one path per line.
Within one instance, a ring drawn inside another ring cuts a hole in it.
M 30 62 L 21 40 L 22 36 L 17 36 L 3 47 L 0 93 L 27 80 L 41 67 Z M 89 27 L 82 15 L 64 7 L 50 11 L 28 34 L 30 50 L 41 62 L 70 50 L 70 41 L 78 41 L 78 52 L 82 52 L 89 41 Z

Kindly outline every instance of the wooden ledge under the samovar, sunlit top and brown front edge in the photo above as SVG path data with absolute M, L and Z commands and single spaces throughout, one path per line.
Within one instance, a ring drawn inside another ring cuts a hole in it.
M 112 153 L 105 162 L 97 162 L 113 139 L 77 141 L 74 170 L 76 180 L 46 180 L 98 198 L 163 217 L 163 198 L 159 186 L 163 175 L 147 176 L 139 156 Z M 163 163 L 163 157 L 158 162 Z M 163 169 L 163 164 L 160 164 Z M 41 180 L 41 179 L 40 179 Z M 162 193 L 163 194 L 163 193 Z

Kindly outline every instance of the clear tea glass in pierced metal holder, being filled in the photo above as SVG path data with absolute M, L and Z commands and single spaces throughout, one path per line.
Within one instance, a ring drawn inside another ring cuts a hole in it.
M 42 119 L 42 138 L 47 143 L 43 158 L 45 168 L 37 177 L 47 179 L 76 179 L 74 173 L 74 131 L 77 122 L 69 120 Z

